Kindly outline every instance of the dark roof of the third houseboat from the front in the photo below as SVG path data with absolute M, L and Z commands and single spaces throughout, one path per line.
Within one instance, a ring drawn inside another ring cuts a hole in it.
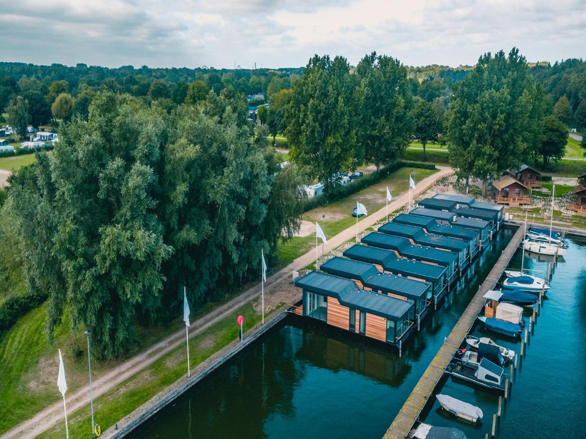
M 420 279 L 437 281 L 445 275 L 446 267 L 431 265 L 418 260 L 397 258 L 394 252 L 368 245 L 355 244 L 344 253 L 347 258 L 379 264 L 384 270 L 404 276 L 414 276 Z

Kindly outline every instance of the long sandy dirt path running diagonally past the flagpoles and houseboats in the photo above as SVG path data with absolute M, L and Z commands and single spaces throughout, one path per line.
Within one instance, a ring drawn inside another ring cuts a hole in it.
M 454 171 L 449 167 L 438 166 L 438 169 L 440 169 L 440 172 L 437 172 L 417 183 L 418 187 L 415 190 L 414 197 L 417 197 L 419 194 L 424 193 L 430 186 L 433 186 L 435 181 L 440 180 L 442 177 L 446 177 L 454 173 Z M 397 210 L 404 204 L 407 204 L 407 201 L 408 193 L 404 193 L 402 196 L 397 197 L 391 204 L 389 204 L 389 212 Z M 384 218 L 385 214 L 386 210 L 384 207 L 377 212 L 369 214 L 366 218 L 363 218 L 361 221 L 359 221 L 358 230 L 363 231 L 364 229 L 369 228 L 373 224 L 376 224 L 376 222 Z M 333 236 L 332 238 L 328 238 L 328 243 L 325 245 L 325 253 L 332 251 L 333 249 L 341 245 L 343 242 L 352 239 L 355 235 L 356 225 L 353 225 L 352 227 L 349 227 L 346 230 L 340 232 L 338 235 Z M 280 300 L 280 294 L 278 294 L 277 291 L 272 291 L 271 289 L 278 283 L 280 283 L 282 280 L 287 279 L 288 277 L 290 278 L 292 271 L 302 269 L 303 267 L 312 263 L 314 260 L 315 251 L 312 249 L 311 251 L 305 253 L 305 255 L 299 256 L 299 258 L 295 259 L 291 264 L 284 267 L 279 272 L 268 277 L 267 282 L 265 282 L 264 284 L 265 297 L 268 294 L 275 294 L 273 300 Z M 216 308 L 214 311 L 212 311 L 212 313 L 207 314 L 204 317 L 194 321 L 190 327 L 189 337 L 195 337 L 197 334 L 200 334 L 200 332 L 206 330 L 214 323 L 217 323 L 227 315 L 236 311 L 244 304 L 259 296 L 260 290 L 261 289 L 259 283 L 251 287 L 250 289 L 244 291 L 242 294 L 240 294 L 240 296 L 237 296 L 229 302 Z M 285 297 L 289 296 L 284 295 L 282 298 L 284 299 Z M 112 387 L 117 386 L 125 379 L 141 371 L 141 369 L 146 368 L 152 362 L 156 361 L 156 359 L 161 358 L 161 356 L 165 355 L 172 349 L 175 349 L 183 342 L 185 342 L 185 332 L 183 332 L 183 330 L 180 330 L 175 334 L 170 335 L 165 340 L 158 342 L 157 344 L 148 348 L 141 354 L 138 354 L 133 358 L 129 359 L 128 361 L 125 361 L 124 363 L 112 369 L 111 371 L 105 373 L 104 375 L 94 376 L 94 398 L 102 395 L 104 392 L 110 390 Z M 70 393 L 70 395 L 67 396 L 67 413 L 73 413 L 73 411 L 88 404 L 90 402 L 89 392 L 89 386 L 85 386 L 81 389 L 76 390 L 76 392 Z M 26 420 L 25 422 L 12 428 L 12 430 L 7 431 L 0 438 L 33 438 L 36 435 L 42 433 L 43 431 L 53 426 L 53 424 L 55 424 L 57 421 L 60 421 L 62 419 L 63 404 L 62 402 L 54 403 L 52 406 L 49 406 L 45 410 L 35 414 L 35 416 L 30 418 L 29 420 Z

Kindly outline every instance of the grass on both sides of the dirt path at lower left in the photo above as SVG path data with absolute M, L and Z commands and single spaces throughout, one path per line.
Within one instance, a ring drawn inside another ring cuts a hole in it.
M 192 368 L 238 337 L 235 321 L 239 314 L 244 316 L 245 331 L 261 319 L 254 310 L 254 302 L 248 303 L 202 334 L 191 338 L 189 348 Z M 54 382 L 59 368 L 58 347 L 62 348 L 69 392 L 87 385 L 83 328 L 77 334 L 72 334 L 67 324 L 62 325 L 56 331 L 53 347 L 50 347 L 45 340 L 44 323 L 45 306 L 42 306 L 22 317 L 0 340 L 0 434 L 61 399 Z M 178 319 L 165 328 L 138 328 L 137 340 L 142 339 L 142 342 L 127 357 L 137 354 L 137 351 L 142 351 L 155 339 L 166 337 L 182 326 L 183 321 Z M 92 359 L 92 373 L 97 376 L 120 361 Z M 180 345 L 143 371 L 94 399 L 96 422 L 105 430 L 171 385 L 185 372 L 185 346 Z M 83 437 L 82 432 L 89 431 L 91 424 L 89 405 L 68 414 L 68 420 L 71 437 Z M 58 423 L 40 437 L 63 437 L 64 432 L 61 430 L 64 430 L 64 423 Z

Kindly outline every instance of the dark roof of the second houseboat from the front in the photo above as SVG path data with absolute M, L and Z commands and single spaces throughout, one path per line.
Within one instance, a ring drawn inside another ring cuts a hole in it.
M 330 275 L 351 277 L 360 280 L 366 287 L 401 294 L 410 299 L 425 297 L 427 290 L 431 288 L 431 284 L 389 273 L 381 273 L 370 263 L 340 258 L 339 256 L 323 263 L 320 269 Z

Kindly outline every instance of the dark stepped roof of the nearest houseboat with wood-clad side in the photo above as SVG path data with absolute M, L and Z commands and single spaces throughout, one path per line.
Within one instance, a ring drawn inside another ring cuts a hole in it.
M 389 318 L 390 320 L 399 320 L 413 306 L 413 302 L 407 300 L 361 290 L 353 280 L 315 271 L 309 272 L 303 277 L 298 277 L 295 280 L 295 286 L 304 290 L 314 291 L 314 293 L 335 297 L 342 306 L 380 315 L 380 317 Z

